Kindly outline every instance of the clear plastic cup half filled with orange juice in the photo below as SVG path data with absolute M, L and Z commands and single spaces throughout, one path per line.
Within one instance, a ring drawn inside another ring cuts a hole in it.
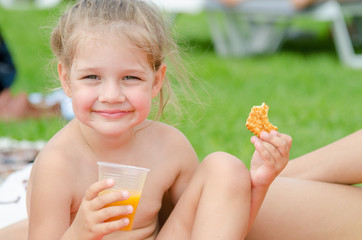
M 113 217 L 108 219 L 107 222 L 119 220 L 126 217 L 129 219 L 129 224 L 126 227 L 121 228 L 120 230 L 131 231 L 137 206 L 141 198 L 143 185 L 150 170 L 147 168 L 133 167 L 117 163 L 97 162 L 97 164 L 99 169 L 100 181 L 108 178 L 112 178 L 115 181 L 115 184 L 112 188 L 107 189 L 100 194 L 123 190 L 128 191 L 130 194 L 129 199 L 111 203 L 106 207 L 132 205 L 134 209 L 133 213 L 131 214 Z

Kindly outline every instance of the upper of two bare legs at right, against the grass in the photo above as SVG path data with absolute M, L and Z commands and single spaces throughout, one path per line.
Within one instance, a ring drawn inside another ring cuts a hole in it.
M 362 130 L 290 161 L 281 176 L 362 183 Z

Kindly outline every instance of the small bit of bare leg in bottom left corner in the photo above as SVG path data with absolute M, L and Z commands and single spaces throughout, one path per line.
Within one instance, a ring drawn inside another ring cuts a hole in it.
M 28 219 L 0 229 L 0 239 L 26 240 L 28 239 Z

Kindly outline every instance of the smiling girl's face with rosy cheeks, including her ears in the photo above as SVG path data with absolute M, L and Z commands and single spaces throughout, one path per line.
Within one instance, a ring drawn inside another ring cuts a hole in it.
M 154 72 L 144 52 L 115 36 L 88 34 L 70 69 L 58 65 L 77 119 L 105 135 L 133 130 L 147 118 L 166 71 L 162 65 Z

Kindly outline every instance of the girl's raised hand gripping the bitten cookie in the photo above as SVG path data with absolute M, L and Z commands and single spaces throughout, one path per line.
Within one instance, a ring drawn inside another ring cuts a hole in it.
M 271 131 L 262 132 L 260 138 L 253 136 L 251 142 L 255 146 L 250 164 L 252 186 L 269 187 L 288 163 L 292 138 Z

